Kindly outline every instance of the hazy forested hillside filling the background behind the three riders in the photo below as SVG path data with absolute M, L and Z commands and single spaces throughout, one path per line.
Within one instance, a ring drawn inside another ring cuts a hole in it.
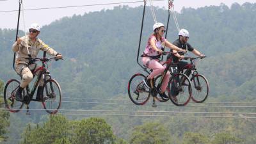
M 63 61 L 52 62 L 49 69 L 52 77 L 60 82 L 63 97 L 96 98 L 103 102 L 106 102 L 105 99 L 115 98 L 127 100 L 126 103 L 128 103 L 128 105 L 113 105 L 63 102 L 62 109 L 255 112 L 253 108 L 180 108 L 174 107 L 169 102 L 166 105 L 160 104 L 156 109 L 150 106 L 133 106 L 127 97 L 127 83 L 132 74 L 143 72 L 136 64 L 142 10 L 142 6 L 137 8 L 118 6 L 113 10 L 64 17 L 48 26 L 43 26 L 40 38 L 64 56 Z M 144 50 L 148 36 L 152 33 L 153 20 L 150 9 L 147 8 L 146 12 L 141 52 Z M 255 102 L 256 65 L 253 62 L 256 56 L 255 12 L 256 3 L 244 3 L 243 5 L 234 3 L 230 8 L 221 4 L 196 10 L 184 8 L 178 13 L 180 28 L 189 30 L 189 43 L 207 56 L 198 63 L 199 72 L 209 79 L 211 86 L 207 102 Z M 166 23 L 167 10 L 156 8 L 156 15 L 159 22 Z M 169 28 L 168 40 L 173 42 L 177 38 L 177 29 L 172 19 Z M 20 36 L 22 35 L 24 33 L 20 31 Z M 13 77 L 19 79 L 12 69 L 11 47 L 14 40 L 15 29 L 0 29 L 0 79 L 4 82 Z M 42 53 L 39 56 L 42 56 Z M 73 100 L 77 101 L 77 99 Z M 32 104 L 31 108 L 41 107 L 40 104 Z M 68 115 L 72 111 L 61 113 Z M 84 116 L 68 116 L 68 118 L 80 120 Z M 194 138 L 201 136 L 200 134 L 205 136 L 202 141 L 214 141 L 215 137 L 211 136 L 215 136 L 214 134 L 218 136 L 218 133 L 232 138 L 236 143 L 241 143 L 241 140 L 245 141 L 244 143 L 255 143 L 253 139 L 256 134 L 255 120 L 128 116 L 105 116 L 104 119 L 111 124 L 118 138 L 124 138 L 129 142 L 136 141 L 134 136 L 143 131 L 143 127 L 136 129 L 132 127 L 147 122 L 159 122 L 164 125 L 164 131 L 172 135 L 170 139 L 164 140 L 175 141 L 175 143 L 186 143 L 187 137 Z M 10 115 L 10 120 L 9 135 L 12 138 L 9 138 L 6 143 L 24 141 L 20 140 L 22 133 L 20 131 L 24 131 L 28 122 L 32 123 L 32 128 L 29 128 L 29 125 L 26 131 L 37 131 L 42 129 L 41 127 L 49 128 L 47 123 L 43 123 L 48 119 L 42 113 L 34 112 L 31 116 L 18 113 Z M 33 125 L 38 122 L 41 123 L 37 126 Z M 8 126 L 8 123 L 5 126 Z M 147 124 L 145 127 L 148 127 Z M 151 128 L 154 129 L 154 127 Z M 157 127 L 157 129 L 163 129 L 163 127 Z M 225 135 L 221 132 L 232 135 Z M 26 135 L 22 138 L 26 138 Z

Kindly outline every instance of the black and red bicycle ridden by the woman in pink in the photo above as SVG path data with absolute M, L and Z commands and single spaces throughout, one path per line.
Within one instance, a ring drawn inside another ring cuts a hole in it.
M 164 52 L 163 54 L 170 54 L 172 52 Z M 173 53 L 174 54 L 174 53 Z M 172 58 L 168 58 L 162 65 L 166 65 L 164 69 L 163 75 L 159 75 L 150 81 L 150 88 L 147 88 L 143 83 L 143 79 L 145 79 L 145 75 L 143 74 L 134 74 L 128 83 L 128 94 L 132 102 L 136 105 L 143 105 L 147 103 L 150 95 L 154 97 L 153 99 L 153 107 L 156 107 L 156 100 L 159 102 L 166 102 L 166 99 L 163 99 L 161 95 L 159 95 L 160 88 L 163 84 L 163 78 L 166 76 L 168 70 L 173 68 Z M 145 71 L 146 71 L 145 67 Z M 152 70 L 150 70 L 152 72 Z M 147 72 L 147 71 L 146 71 Z M 148 72 L 149 73 L 149 72 Z M 191 99 L 191 82 L 185 74 L 178 73 L 177 71 L 170 71 L 171 78 L 168 83 L 168 87 L 166 92 L 168 92 L 168 96 L 170 100 L 176 106 L 185 106 L 188 104 L 189 100 Z M 175 77 L 175 78 L 174 78 Z M 171 88 L 175 88 L 179 93 L 177 95 L 172 95 Z

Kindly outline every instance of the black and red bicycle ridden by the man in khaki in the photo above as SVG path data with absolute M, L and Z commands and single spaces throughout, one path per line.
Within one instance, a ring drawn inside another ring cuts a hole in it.
M 29 107 L 28 107 L 29 103 L 31 101 L 38 101 L 36 99 L 33 99 L 33 95 L 42 77 L 44 80 L 44 90 L 41 94 L 43 95 L 43 97 L 45 96 L 47 97 L 46 100 L 43 99 L 41 101 L 43 104 L 43 107 L 47 111 L 47 113 L 50 113 L 50 114 L 57 113 L 58 109 L 61 106 L 61 88 L 60 88 L 60 84 L 58 84 L 56 80 L 52 79 L 50 72 L 47 70 L 49 68 L 49 66 L 47 65 L 47 62 L 52 60 L 58 61 L 60 59 L 55 57 L 49 58 L 49 59 L 48 58 L 28 58 L 28 59 L 29 59 L 29 63 L 42 61 L 42 67 L 38 67 L 38 68 L 35 68 L 34 70 L 31 70 L 34 77 L 36 76 L 36 73 L 38 73 L 36 81 L 33 84 L 33 88 L 30 91 L 29 86 L 26 86 L 26 88 L 24 88 L 24 90 L 22 91 L 22 97 L 24 98 L 24 100 L 17 101 L 15 100 L 15 93 L 19 88 L 20 81 L 18 81 L 17 79 L 10 79 L 4 86 L 4 103 L 6 108 L 9 109 L 12 113 L 17 113 L 20 111 L 22 106 L 26 104 L 27 114 L 29 114 Z

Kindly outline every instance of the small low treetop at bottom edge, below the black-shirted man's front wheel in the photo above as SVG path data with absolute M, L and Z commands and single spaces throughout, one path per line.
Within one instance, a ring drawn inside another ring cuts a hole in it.
M 186 132 L 183 137 L 183 144 L 206 144 L 209 142 L 207 136 L 194 132 Z

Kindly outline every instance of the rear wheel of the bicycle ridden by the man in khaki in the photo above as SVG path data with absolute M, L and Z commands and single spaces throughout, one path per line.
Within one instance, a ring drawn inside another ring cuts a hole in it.
M 15 94 L 19 88 L 20 82 L 16 79 L 10 79 L 4 86 L 4 103 L 5 107 L 9 109 L 12 113 L 17 113 L 20 111 L 24 102 L 15 100 Z M 25 95 L 25 91 L 22 91 Z

